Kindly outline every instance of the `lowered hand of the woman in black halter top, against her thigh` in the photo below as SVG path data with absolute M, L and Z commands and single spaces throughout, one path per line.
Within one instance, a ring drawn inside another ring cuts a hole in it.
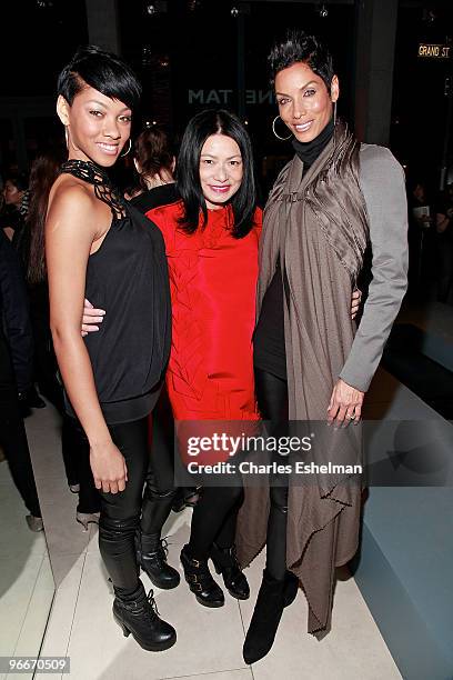
M 90 466 L 97 489 L 104 493 L 124 491 L 128 468 L 124 457 L 111 439 L 90 447 Z

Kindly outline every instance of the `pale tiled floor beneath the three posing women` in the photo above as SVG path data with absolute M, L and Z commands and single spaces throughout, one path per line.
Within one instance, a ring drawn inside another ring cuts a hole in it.
M 263 568 L 263 556 L 246 570 L 251 599 L 238 602 L 226 593 L 225 606 L 210 610 L 195 601 L 184 581 L 171 591 L 155 591 L 163 618 L 178 631 L 177 644 L 164 652 L 144 652 L 124 638 L 111 616 L 112 593 L 97 543 L 76 523 L 76 497 L 66 484 L 51 407 L 27 421 L 51 563 L 58 590 L 42 656 L 69 656 L 74 680 L 393 680 L 397 668 L 353 579 L 341 574 L 335 592 L 332 632 L 318 642 L 306 633 L 306 604 L 300 592 L 284 612 L 270 654 L 253 667 L 242 660 Z M 180 569 L 190 511 L 172 514 L 167 527 L 169 561 Z M 150 586 L 142 574 L 145 588 Z M 41 676 L 38 676 L 41 678 Z M 54 676 L 53 676 L 54 677 Z M 68 676 L 62 676 L 62 678 Z M 48 676 L 42 676 L 46 680 Z

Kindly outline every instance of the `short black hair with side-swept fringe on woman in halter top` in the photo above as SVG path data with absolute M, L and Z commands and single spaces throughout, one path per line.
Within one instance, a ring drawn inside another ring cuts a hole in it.
M 117 54 L 94 44 L 78 48 L 58 77 L 57 91 L 72 106 L 85 86 L 125 103 L 132 111 L 139 107 L 142 88 L 135 73 Z

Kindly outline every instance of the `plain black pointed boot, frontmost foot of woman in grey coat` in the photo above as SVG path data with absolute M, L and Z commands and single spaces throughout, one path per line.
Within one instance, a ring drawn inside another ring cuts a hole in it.
M 264 569 L 256 604 L 243 647 L 245 663 L 259 661 L 271 650 L 284 608 L 286 580 L 273 579 Z

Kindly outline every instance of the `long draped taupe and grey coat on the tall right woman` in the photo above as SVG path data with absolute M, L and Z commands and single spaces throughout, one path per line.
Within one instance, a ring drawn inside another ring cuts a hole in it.
M 406 290 L 402 168 L 387 149 L 361 144 L 355 170 L 339 176 L 330 159 L 341 133 L 335 128 L 334 140 L 305 176 L 293 158 L 264 211 L 256 318 L 280 257 L 290 288 L 284 310 L 290 420 L 325 420 L 339 377 L 368 390 Z M 356 331 L 350 304 L 366 240 L 373 279 Z M 356 458 L 360 428 L 345 432 L 339 447 L 325 426 L 321 462 Z M 330 628 L 335 567 L 358 549 L 362 489 L 348 481 L 320 477 L 316 483 L 289 486 L 286 564 L 305 592 L 308 630 L 316 637 Z M 246 489 L 236 534 L 243 566 L 265 544 L 269 507 L 269 489 Z

